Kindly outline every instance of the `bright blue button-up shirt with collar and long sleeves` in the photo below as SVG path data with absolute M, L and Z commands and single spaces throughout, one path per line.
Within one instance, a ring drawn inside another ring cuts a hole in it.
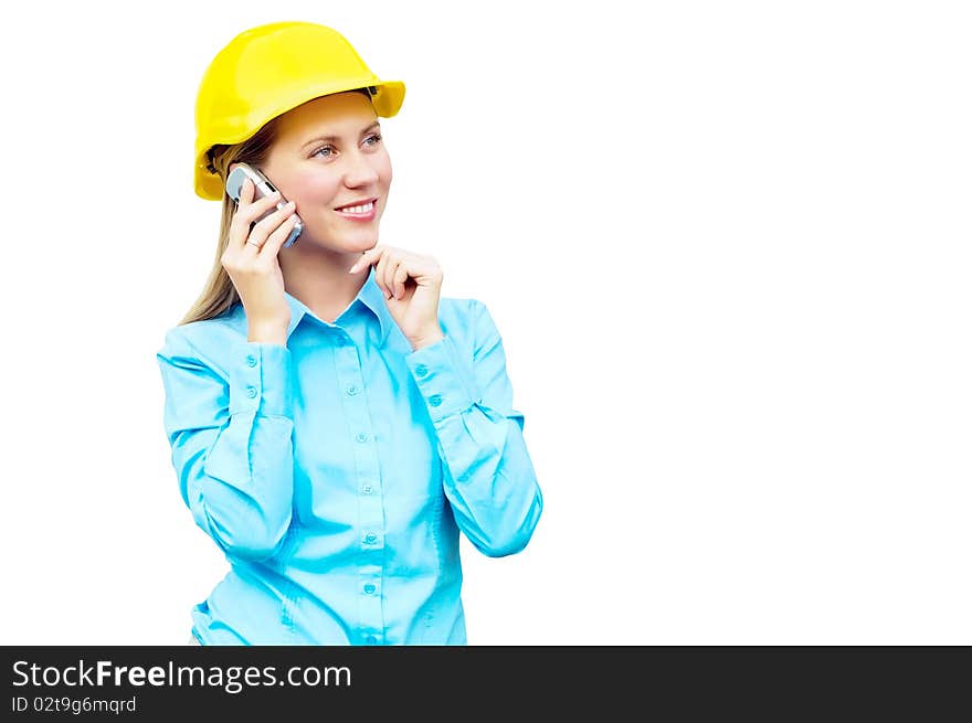
M 440 299 L 412 351 L 374 281 L 334 323 L 290 306 L 247 341 L 237 301 L 157 359 L 182 500 L 230 572 L 192 608 L 203 645 L 462 645 L 459 530 L 529 541 L 542 498 L 485 305 Z

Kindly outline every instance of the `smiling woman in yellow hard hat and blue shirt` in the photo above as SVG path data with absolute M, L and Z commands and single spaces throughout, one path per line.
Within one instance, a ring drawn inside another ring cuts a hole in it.
M 488 310 L 440 299 L 431 256 L 378 244 L 378 118 L 403 97 L 311 23 L 246 31 L 203 77 L 216 263 L 157 355 L 182 499 L 231 566 L 192 609 L 202 645 L 465 644 L 459 531 L 508 555 L 540 517 Z M 281 195 L 247 182 L 235 204 L 239 163 Z

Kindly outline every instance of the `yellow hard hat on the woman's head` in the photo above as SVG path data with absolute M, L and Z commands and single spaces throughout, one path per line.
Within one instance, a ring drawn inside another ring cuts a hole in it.
M 390 118 L 405 84 L 380 81 L 336 30 L 309 22 L 275 22 L 236 35 L 210 63 L 196 99 L 196 193 L 223 198 L 210 170 L 210 148 L 250 138 L 264 124 L 323 95 L 368 88 L 374 111 Z

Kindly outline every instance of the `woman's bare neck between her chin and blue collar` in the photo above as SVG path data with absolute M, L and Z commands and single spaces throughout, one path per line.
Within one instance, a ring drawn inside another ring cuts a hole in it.
M 287 294 L 299 299 L 323 321 L 334 323 L 340 313 L 358 296 L 370 269 L 362 268 L 357 274 L 348 269 L 361 257 L 351 252 L 336 252 L 311 245 L 298 248 L 298 241 L 292 248 L 277 256 L 284 275 Z

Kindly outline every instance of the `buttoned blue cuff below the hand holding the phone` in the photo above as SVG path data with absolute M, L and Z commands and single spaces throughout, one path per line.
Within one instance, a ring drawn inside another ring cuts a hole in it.
M 290 350 L 282 344 L 236 344 L 230 362 L 230 414 L 294 418 Z

